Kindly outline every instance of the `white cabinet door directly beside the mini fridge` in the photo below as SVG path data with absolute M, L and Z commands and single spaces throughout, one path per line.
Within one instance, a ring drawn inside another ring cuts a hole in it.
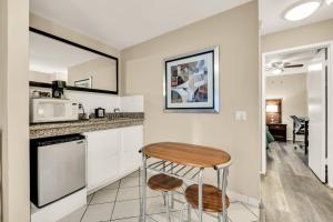
M 88 138 L 88 191 L 118 179 L 120 171 L 119 129 L 85 133 Z

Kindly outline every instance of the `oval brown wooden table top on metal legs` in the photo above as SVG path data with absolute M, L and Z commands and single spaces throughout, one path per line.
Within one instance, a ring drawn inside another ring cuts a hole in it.
M 230 154 L 223 150 L 176 142 L 148 144 L 142 152 L 150 158 L 195 168 L 214 168 L 231 160 Z

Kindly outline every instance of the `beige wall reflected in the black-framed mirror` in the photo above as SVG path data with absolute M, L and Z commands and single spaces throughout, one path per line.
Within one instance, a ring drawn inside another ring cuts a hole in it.
M 92 78 L 92 89 L 115 91 L 117 75 L 114 70 L 114 60 L 100 57 L 81 64 L 69 67 L 68 84 L 74 85 L 77 80 Z

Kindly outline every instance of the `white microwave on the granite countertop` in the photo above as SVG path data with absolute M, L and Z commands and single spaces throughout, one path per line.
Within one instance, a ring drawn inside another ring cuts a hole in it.
M 61 122 L 79 120 L 79 103 L 71 100 L 30 99 L 30 122 Z

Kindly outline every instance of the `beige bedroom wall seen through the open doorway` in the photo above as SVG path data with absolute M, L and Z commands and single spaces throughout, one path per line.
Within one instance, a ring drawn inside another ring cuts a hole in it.
M 292 140 L 290 115 L 307 117 L 306 73 L 268 77 L 266 99 L 282 99 L 282 122 L 287 124 L 287 139 Z

